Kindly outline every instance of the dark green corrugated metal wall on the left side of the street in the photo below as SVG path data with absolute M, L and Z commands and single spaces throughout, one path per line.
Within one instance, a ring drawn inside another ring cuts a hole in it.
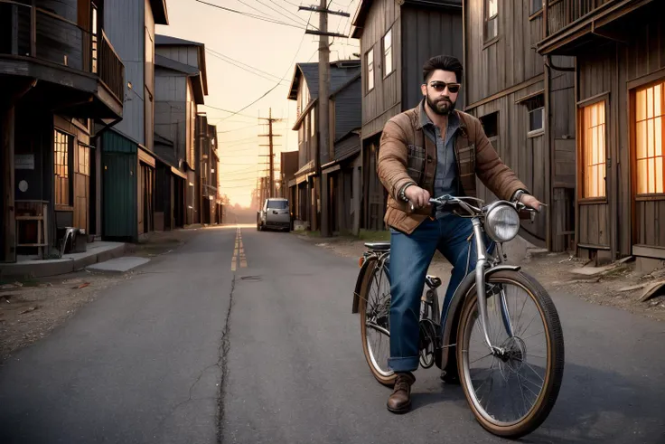
M 136 224 L 136 144 L 108 131 L 102 136 L 102 235 L 138 238 Z

